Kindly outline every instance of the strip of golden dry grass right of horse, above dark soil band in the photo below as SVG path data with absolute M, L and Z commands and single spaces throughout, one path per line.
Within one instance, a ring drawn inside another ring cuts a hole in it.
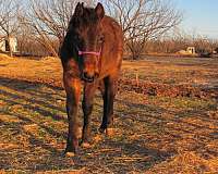
M 203 58 L 147 58 L 144 61 L 124 62 L 123 76 L 161 84 L 218 85 L 218 59 Z

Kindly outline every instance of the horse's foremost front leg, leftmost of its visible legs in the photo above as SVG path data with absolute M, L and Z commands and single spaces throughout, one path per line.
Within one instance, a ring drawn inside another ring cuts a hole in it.
M 66 112 L 69 121 L 69 133 L 65 153 L 73 156 L 78 147 L 78 101 L 81 96 L 81 80 L 76 78 L 63 76 L 63 83 L 66 91 Z

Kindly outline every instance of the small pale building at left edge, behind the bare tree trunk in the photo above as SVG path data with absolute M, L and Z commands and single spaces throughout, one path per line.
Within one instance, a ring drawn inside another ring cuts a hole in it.
M 8 52 L 10 51 L 10 45 L 11 45 L 11 49 L 12 49 L 12 52 L 17 52 L 19 49 L 17 49 L 17 39 L 15 37 L 9 37 L 9 39 L 7 37 L 3 37 L 1 40 L 0 40 L 0 51 L 2 52 Z

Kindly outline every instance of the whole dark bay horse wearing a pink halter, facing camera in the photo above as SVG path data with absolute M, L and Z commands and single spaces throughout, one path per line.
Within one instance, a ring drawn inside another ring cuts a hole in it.
M 77 110 L 82 86 L 82 145 L 90 140 L 90 114 L 97 88 L 104 99 L 104 116 L 99 130 L 104 133 L 111 124 L 122 53 L 122 29 L 113 18 L 105 15 L 102 4 L 98 3 L 92 9 L 78 2 L 60 49 L 69 120 L 66 153 L 73 154 L 78 147 Z

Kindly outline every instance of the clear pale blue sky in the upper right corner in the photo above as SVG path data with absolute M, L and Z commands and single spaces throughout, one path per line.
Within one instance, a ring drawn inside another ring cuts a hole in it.
M 218 0 L 173 0 L 183 12 L 181 29 L 218 39 Z

